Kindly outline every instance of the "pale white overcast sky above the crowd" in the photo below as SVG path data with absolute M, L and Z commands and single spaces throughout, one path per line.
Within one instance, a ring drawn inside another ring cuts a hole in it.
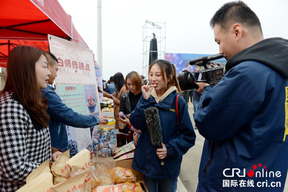
M 96 57 L 96 0 L 58 0 Z M 209 21 L 223 0 L 102 0 L 103 78 L 142 70 L 143 25 L 166 21 L 166 52 L 216 54 Z M 287 0 L 246 0 L 259 17 L 264 38 L 288 39 Z M 157 34 L 156 34 L 157 35 Z M 158 48 L 159 49 L 159 48 Z M 96 57 L 97 61 L 97 57 Z M 147 76 L 147 74 L 143 74 Z

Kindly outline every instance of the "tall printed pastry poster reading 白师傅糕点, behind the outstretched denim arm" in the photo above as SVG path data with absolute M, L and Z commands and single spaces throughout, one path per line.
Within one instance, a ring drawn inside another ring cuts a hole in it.
M 58 59 L 56 93 L 69 108 L 82 115 L 101 113 L 92 50 L 48 35 L 50 52 Z M 101 82 L 102 83 L 102 82 Z M 70 154 L 92 151 L 90 128 L 66 126 Z

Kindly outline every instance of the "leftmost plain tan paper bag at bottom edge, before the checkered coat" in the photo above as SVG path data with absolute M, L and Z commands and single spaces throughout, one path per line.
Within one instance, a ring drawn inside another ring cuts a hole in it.
M 50 172 L 44 172 L 34 177 L 16 192 L 47 192 L 51 187 L 53 187 L 53 175 Z

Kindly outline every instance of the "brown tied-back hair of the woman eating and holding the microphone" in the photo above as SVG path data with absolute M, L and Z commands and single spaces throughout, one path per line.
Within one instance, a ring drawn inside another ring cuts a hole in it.
M 162 76 L 163 80 L 165 81 L 165 75 L 166 75 L 167 79 L 170 80 L 167 84 L 167 88 L 165 89 L 165 91 L 167 91 L 172 86 L 176 86 L 176 88 L 178 89 L 178 93 L 182 92 L 180 89 L 179 83 L 178 83 L 178 79 L 177 79 L 177 75 L 176 75 L 176 68 L 169 61 L 156 60 L 156 61 L 152 62 L 149 66 L 149 69 L 148 69 L 148 77 L 149 77 L 149 73 L 150 73 L 152 66 L 155 64 L 157 64 L 160 67 L 161 76 Z M 172 75 L 171 79 L 170 79 L 170 75 Z M 149 81 L 151 81 L 151 80 L 149 80 Z

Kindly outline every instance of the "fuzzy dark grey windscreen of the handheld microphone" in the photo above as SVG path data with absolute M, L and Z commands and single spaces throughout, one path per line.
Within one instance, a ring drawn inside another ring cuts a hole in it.
M 158 109 L 156 107 L 147 108 L 144 111 L 144 115 L 152 145 L 161 146 L 161 143 L 163 142 L 163 135 Z

